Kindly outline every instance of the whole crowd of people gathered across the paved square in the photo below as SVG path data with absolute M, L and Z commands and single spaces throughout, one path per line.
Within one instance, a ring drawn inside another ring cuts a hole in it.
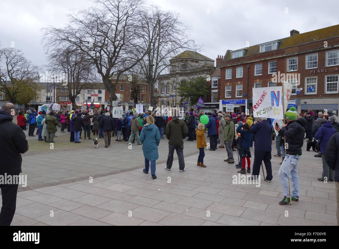
M 0 111 L 0 128 L 4 130 L 13 126 L 13 124 L 10 124 L 12 123 L 13 114 L 9 112 L 9 109 L 14 105 L 11 103 L 6 105 Z M 208 117 L 206 124 L 200 122 L 200 117 L 204 114 Z M 7 135 L 15 138 L 13 147 L 18 146 L 15 152 L 8 151 L 8 154 L 14 153 L 17 157 L 20 157 L 20 153 L 27 151 L 28 144 L 22 130 L 28 129 L 28 136 L 34 137 L 37 126 L 38 140 L 54 143 L 55 132 L 59 126 L 61 127 L 61 132 L 65 132 L 65 129 L 70 132 L 70 142 L 74 143 L 81 143 L 79 141 L 82 139 L 81 136 L 83 136 L 83 139 L 92 139 L 92 132 L 94 136 L 99 135 L 99 138 L 104 140 L 105 148 L 111 145 L 111 138 L 114 136 L 116 136 L 116 141 L 125 141 L 128 146 L 137 140 L 137 145 L 142 145 L 144 155 L 145 167 L 143 172 L 148 174 L 149 170 L 151 170 L 151 177 L 156 179 L 156 160 L 159 158 L 158 146 L 161 139 L 164 139 L 165 135 L 168 140 L 168 156 L 165 170 L 172 169 L 174 151 L 176 151 L 179 172 L 184 172 L 183 141 L 188 136 L 187 141 L 196 141 L 197 149 L 199 149 L 197 166 L 208 166 L 204 162 L 206 147 L 210 151 L 225 148 L 227 158 L 224 161 L 227 164 L 235 163 L 234 152 L 237 151 L 238 164 L 235 167 L 240 169 L 237 171 L 239 174 L 250 174 L 248 175 L 248 181 L 256 182 L 260 179 L 260 165 L 263 163 L 266 168 L 265 181 L 271 182 L 273 179 L 271 164 L 272 140 L 275 139 L 277 154 L 274 156 L 282 157 L 278 178 L 283 187 L 284 198 L 279 204 L 286 205 L 291 200 L 299 201 L 298 162 L 302 155 L 302 146 L 305 139 L 308 139 L 306 150 L 310 151 L 312 148 L 318 152 L 315 155 L 316 157 L 322 157 L 323 172 L 318 180 L 325 183 L 335 181 L 337 196 L 339 195 L 339 119 L 331 109 L 327 110 L 326 115 L 318 113 L 318 117 L 315 120 L 315 115 L 311 109 L 307 113 L 299 113 L 298 115 L 296 109 L 291 107 L 285 112 L 285 124 L 278 126 L 278 124 L 273 124 L 273 119 L 256 118 L 254 121 L 253 115 L 244 115 L 244 113 L 240 112 L 226 113 L 217 110 L 204 113 L 203 111 L 195 112 L 191 109 L 183 117 L 179 117 L 179 115 L 166 117 L 161 113 L 149 111 L 137 113 L 136 110 L 133 110 L 127 113 L 124 112 L 122 118 L 113 118 L 112 112 L 96 109 L 92 111 L 73 109 L 68 112 L 58 113 L 50 111 L 48 114 L 45 111 L 37 113 L 36 110 L 28 110 L 18 113 L 17 121 L 21 129 L 16 126 L 19 130 L 15 128 L 14 133 L 10 132 Z M 278 135 L 276 135 L 275 130 Z M 206 131 L 209 143 L 206 143 Z M 6 140 L 7 138 L 2 135 L 1 139 Z M 254 161 L 251 169 L 253 142 L 255 143 Z M 3 147 L 2 152 L 7 153 L 6 150 L 10 149 L 5 148 L 3 144 L 1 143 L 0 145 Z M 19 174 L 21 172 L 21 161 L 15 164 L 16 167 L 13 170 L 2 167 L 0 173 Z M 289 193 L 289 180 L 292 182 L 293 188 L 291 196 Z M 15 187 L 6 189 L 1 185 L 3 198 L 6 198 L 6 193 L 14 192 L 16 189 Z M 338 202 L 339 198 L 337 199 Z M 8 224 L 8 221 L 13 218 L 13 216 L 12 218 L 2 217 L 5 212 L 9 216 L 12 213 L 14 214 L 14 199 L 8 197 L 8 200 L 9 204 L 3 204 L 1 209 L 0 220 L 3 219 L 4 221 L 2 224 Z M 337 209 L 337 217 L 339 219 L 339 209 Z

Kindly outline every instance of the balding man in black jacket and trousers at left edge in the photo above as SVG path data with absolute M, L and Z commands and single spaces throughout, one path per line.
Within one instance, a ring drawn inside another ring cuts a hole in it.
M 15 106 L 7 103 L 0 111 L 0 175 L 1 178 L 12 175 L 18 179 L 21 171 L 21 154 L 28 150 L 25 133 L 20 126 L 12 122 L 15 115 Z M 7 180 L 7 178 L 5 179 Z M 2 208 L 0 212 L 0 226 L 11 225 L 17 201 L 18 182 L 0 184 L 2 193 Z

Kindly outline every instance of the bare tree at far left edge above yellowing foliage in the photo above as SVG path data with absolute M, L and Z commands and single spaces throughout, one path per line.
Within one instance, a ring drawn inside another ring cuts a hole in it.
M 0 92 L 11 103 L 27 104 L 38 96 L 39 68 L 27 60 L 21 50 L 0 49 Z M 22 94 L 26 92 L 25 96 Z M 22 95 L 22 96 L 20 96 Z

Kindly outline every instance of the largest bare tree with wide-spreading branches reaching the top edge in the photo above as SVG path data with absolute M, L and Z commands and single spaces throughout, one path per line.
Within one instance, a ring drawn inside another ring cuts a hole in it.
M 68 15 L 70 24 L 63 28 L 43 29 L 43 41 L 48 50 L 55 44 L 81 51 L 95 65 L 102 82 L 116 100 L 115 89 L 120 76 L 135 66 L 148 49 L 140 53 L 142 30 L 138 13 L 142 0 L 96 0 L 99 7 L 91 7 L 78 14 Z M 112 75 L 116 75 L 112 82 Z M 113 83 L 113 84 L 112 84 Z

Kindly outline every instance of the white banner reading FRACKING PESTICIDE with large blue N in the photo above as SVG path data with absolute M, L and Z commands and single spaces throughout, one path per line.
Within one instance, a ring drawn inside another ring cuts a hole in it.
M 283 119 L 282 86 L 253 88 L 253 117 Z

